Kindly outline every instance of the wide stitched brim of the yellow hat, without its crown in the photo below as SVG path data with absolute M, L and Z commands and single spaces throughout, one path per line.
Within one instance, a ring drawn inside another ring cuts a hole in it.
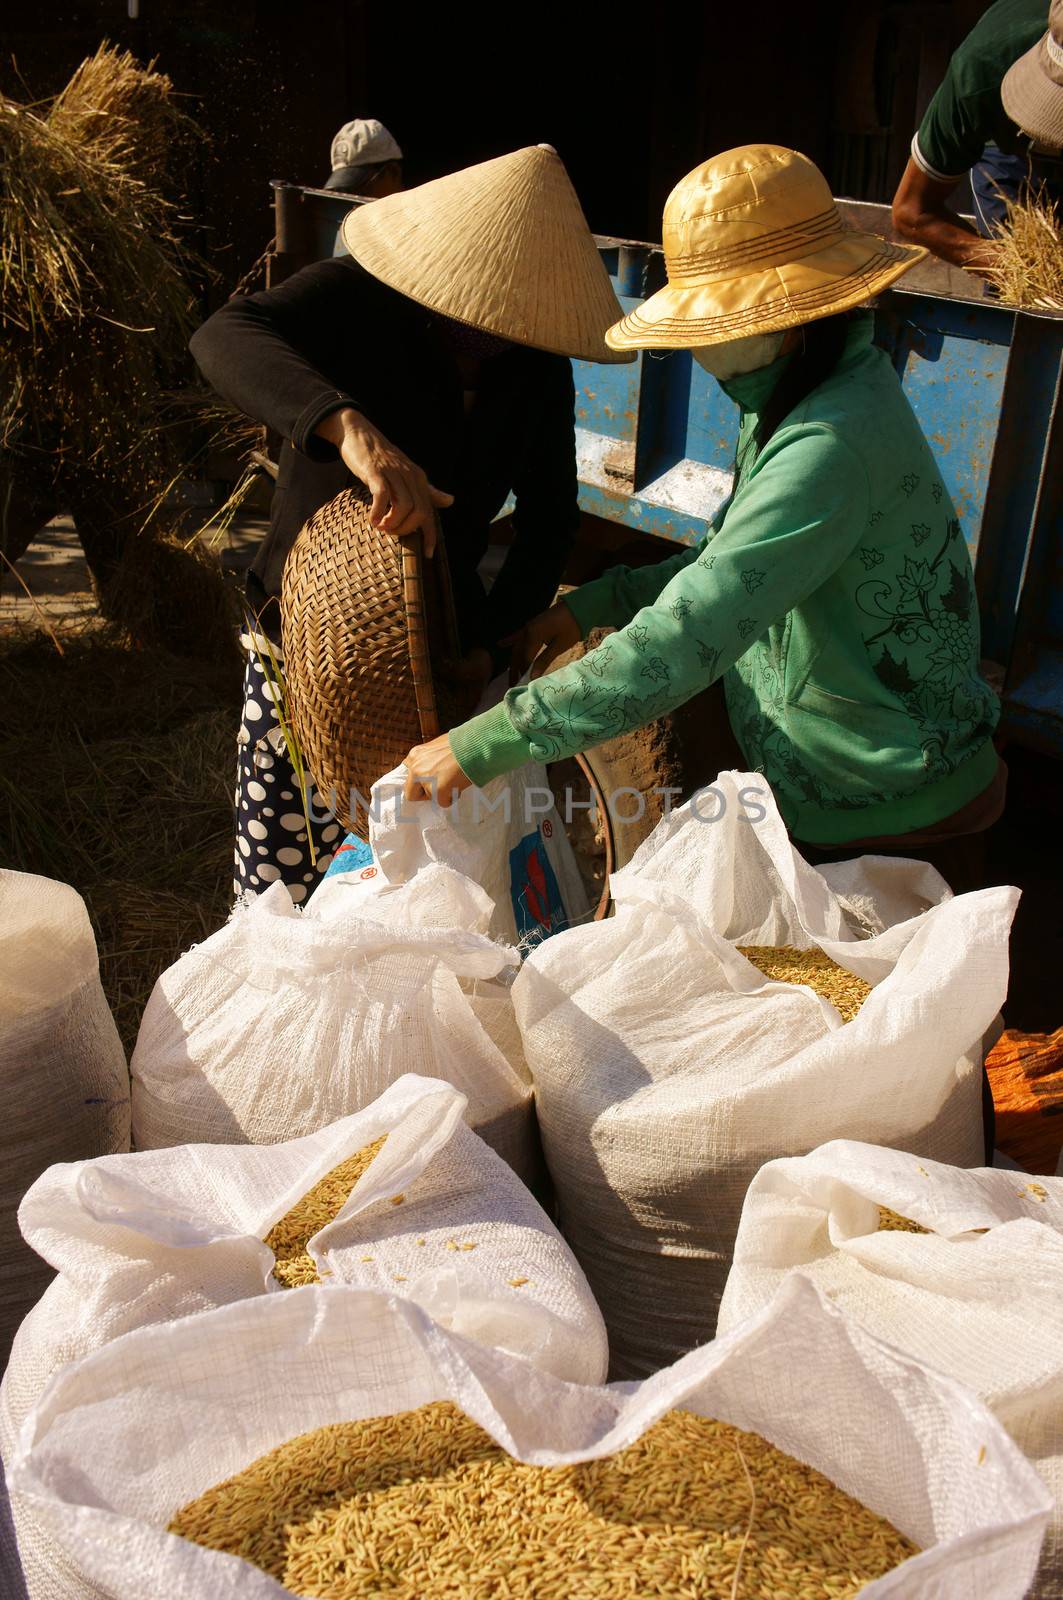
M 692 350 L 796 328 L 880 294 L 927 251 L 847 230 L 826 250 L 762 272 L 658 290 L 605 334 L 613 350 Z

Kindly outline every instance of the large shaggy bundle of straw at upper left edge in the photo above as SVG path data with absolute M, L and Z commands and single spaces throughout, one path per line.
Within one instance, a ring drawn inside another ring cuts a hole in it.
M 69 510 L 104 614 L 207 653 L 232 621 L 219 595 L 203 611 L 221 576 L 181 558 L 171 510 L 203 267 L 165 179 L 194 138 L 170 78 L 110 45 L 48 106 L 0 96 L 0 552 L 16 560 Z M 11 506 L 30 507 L 14 528 Z

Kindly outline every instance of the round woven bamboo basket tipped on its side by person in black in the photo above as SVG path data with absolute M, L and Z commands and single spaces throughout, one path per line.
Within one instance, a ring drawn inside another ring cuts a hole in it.
M 299 533 L 285 563 L 282 640 L 288 714 L 323 802 L 368 837 L 360 800 L 415 744 L 447 725 L 432 662 L 456 659 L 442 539 L 395 539 L 370 523 L 370 498 L 344 490 Z

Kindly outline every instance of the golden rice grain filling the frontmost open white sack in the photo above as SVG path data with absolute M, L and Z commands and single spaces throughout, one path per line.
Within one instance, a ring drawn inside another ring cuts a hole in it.
M 842 1600 L 916 1554 L 725 1422 L 671 1411 L 607 1459 L 530 1467 L 448 1402 L 303 1434 L 170 1531 L 317 1600 Z

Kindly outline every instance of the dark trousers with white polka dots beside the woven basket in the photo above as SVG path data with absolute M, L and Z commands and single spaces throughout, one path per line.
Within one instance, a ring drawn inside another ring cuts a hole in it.
M 285 883 L 291 899 L 299 906 L 328 872 L 344 829 L 328 813 L 317 790 L 311 789 L 307 837 L 299 786 L 277 720 L 274 688 L 248 635 L 243 635 L 243 645 L 247 669 L 243 717 L 237 741 L 237 842 L 232 893 L 237 899 L 253 899 L 271 883 Z M 277 646 L 274 658 L 282 670 Z M 269 670 L 272 672 L 272 664 Z

